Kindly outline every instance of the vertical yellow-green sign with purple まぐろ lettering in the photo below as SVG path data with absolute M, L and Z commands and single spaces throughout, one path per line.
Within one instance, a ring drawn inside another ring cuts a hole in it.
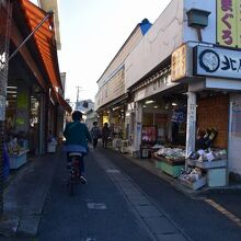
M 217 43 L 241 47 L 241 0 L 217 0 Z

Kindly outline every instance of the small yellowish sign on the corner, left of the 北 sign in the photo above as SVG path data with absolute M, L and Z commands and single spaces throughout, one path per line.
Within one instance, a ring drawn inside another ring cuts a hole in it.
M 172 81 L 186 76 L 186 45 L 182 45 L 172 53 L 171 78 Z

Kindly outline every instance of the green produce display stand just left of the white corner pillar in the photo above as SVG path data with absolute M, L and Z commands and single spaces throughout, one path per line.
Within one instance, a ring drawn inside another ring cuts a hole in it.
M 157 154 L 154 154 L 154 159 L 156 167 L 173 177 L 177 177 L 185 165 L 184 159 L 167 159 Z

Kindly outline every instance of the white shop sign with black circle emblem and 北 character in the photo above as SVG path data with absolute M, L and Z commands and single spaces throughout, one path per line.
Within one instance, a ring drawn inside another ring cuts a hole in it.
M 241 51 L 197 46 L 194 48 L 194 74 L 241 79 Z

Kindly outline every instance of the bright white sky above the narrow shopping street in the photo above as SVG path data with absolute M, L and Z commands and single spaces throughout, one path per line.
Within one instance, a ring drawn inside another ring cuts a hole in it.
M 66 99 L 92 99 L 96 81 L 144 19 L 151 23 L 171 0 L 58 0 L 61 72 L 67 73 Z

